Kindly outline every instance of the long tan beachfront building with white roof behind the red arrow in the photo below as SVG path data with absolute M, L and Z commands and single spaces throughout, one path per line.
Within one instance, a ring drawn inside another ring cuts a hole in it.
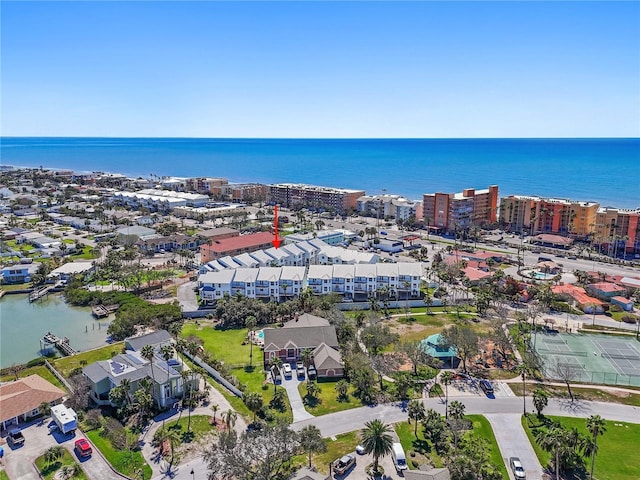
M 336 213 L 355 210 L 363 190 L 319 187 L 316 185 L 278 183 L 268 186 L 269 201 L 286 208 L 308 207 L 332 209 Z

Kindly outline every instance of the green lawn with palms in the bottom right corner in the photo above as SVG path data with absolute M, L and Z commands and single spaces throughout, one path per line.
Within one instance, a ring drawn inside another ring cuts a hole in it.
M 560 422 L 567 428 L 577 428 L 582 434 L 587 434 L 586 419 L 570 417 L 547 417 Z M 527 436 L 533 448 L 544 466 L 549 463 L 551 454 L 545 452 L 535 442 L 532 425 L 538 425 L 536 417 L 530 416 L 529 420 L 522 417 L 522 426 L 527 432 Z M 640 478 L 640 462 L 637 461 L 637 454 L 632 445 L 640 445 L 640 425 L 634 423 L 623 423 L 606 421 L 607 431 L 598 437 L 598 454 L 596 456 L 594 477 L 598 480 L 637 480 Z M 590 459 L 586 460 L 587 469 L 590 467 Z

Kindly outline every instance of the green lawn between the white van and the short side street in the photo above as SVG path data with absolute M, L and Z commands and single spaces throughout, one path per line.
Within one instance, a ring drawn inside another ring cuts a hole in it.
M 502 478 L 508 479 L 509 475 L 507 473 L 507 468 L 504 465 L 504 461 L 502 460 L 502 455 L 500 454 L 500 449 L 498 448 L 498 443 L 496 442 L 495 436 L 493 435 L 493 429 L 491 428 L 489 420 L 487 420 L 482 415 L 466 415 L 465 418 L 473 422 L 473 433 L 488 441 L 491 464 L 498 467 L 500 473 L 502 474 Z M 413 423 L 410 425 L 408 422 L 400 422 L 396 423 L 394 427 L 396 433 L 398 434 L 398 438 L 400 439 L 400 443 L 402 443 L 402 448 L 404 448 L 404 451 L 407 454 L 407 462 L 409 464 L 409 468 L 416 468 L 412 461 L 420 463 L 419 452 L 425 452 L 436 468 L 444 466 L 442 458 L 435 450 L 431 449 L 429 443 L 424 439 L 424 436 L 422 435 L 422 428 L 420 425 L 418 426 L 417 439 L 413 433 L 415 428 Z M 415 456 L 411 455 L 412 451 L 417 452 Z

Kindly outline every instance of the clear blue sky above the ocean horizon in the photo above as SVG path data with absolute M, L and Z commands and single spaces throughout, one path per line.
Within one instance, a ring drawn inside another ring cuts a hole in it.
M 638 2 L 2 2 L 5 136 L 637 137 Z

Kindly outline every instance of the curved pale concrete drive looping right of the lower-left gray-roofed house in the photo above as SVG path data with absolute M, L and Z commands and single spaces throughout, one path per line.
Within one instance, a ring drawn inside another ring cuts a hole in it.
M 200 384 L 201 388 L 203 387 L 204 382 L 205 380 L 201 380 L 201 384 Z M 216 412 L 216 419 L 218 419 L 219 422 L 221 421 L 220 417 L 223 413 L 225 413 L 229 409 L 233 410 L 233 408 L 231 407 L 231 404 L 227 401 L 227 399 L 224 398 L 224 396 L 218 390 L 216 390 L 214 387 L 211 387 L 211 390 L 209 391 L 209 401 L 207 402 L 207 404 L 204 406 L 198 406 L 193 410 L 191 410 L 191 416 L 205 415 L 207 417 L 212 417 L 213 410 L 211 410 L 211 405 L 218 405 L 218 411 Z M 153 436 L 155 435 L 156 431 L 159 428 L 162 428 L 163 418 L 165 422 L 170 422 L 173 420 L 177 420 L 179 415 L 180 415 L 180 411 L 177 409 L 171 409 L 168 412 L 161 413 L 160 415 L 158 415 L 153 419 L 153 422 L 145 429 L 144 433 L 140 437 L 141 453 L 145 461 L 149 464 L 149 466 L 151 467 L 151 470 L 153 471 L 153 475 L 152 475 L 153 478 L 172 477 L 172 474 L 168 475 L 168 472 L 166 471 L 166 468 L 168 466 L 167 462 L 164 461 L 164 459 L 159 455 L 158 450 L 151 445 L 151 442 L 153 441 Z M 184 409 L 184 411 L 182 412 L 182 415 L 183 417 L 186 417 L 188 415 L 188 411 Z M 242 416 L 238 415 L 233 429 L 238 434 L 241 434 L 242 432 L 246 431 L 247 424 L 245 423 L 244 418 L 242 418 Z M 188 452 L 187 454 L 183 455 L 183 458 L 181 459 L 182 464 L 194 460 L 195 457 L 200 457 L 201 452 L 198 450 L 199 450 L 198 448 L 195 448 L 190 452 Z M 174 465 L 173 470 L 175 470 L 177 466 L 178 464 Z

